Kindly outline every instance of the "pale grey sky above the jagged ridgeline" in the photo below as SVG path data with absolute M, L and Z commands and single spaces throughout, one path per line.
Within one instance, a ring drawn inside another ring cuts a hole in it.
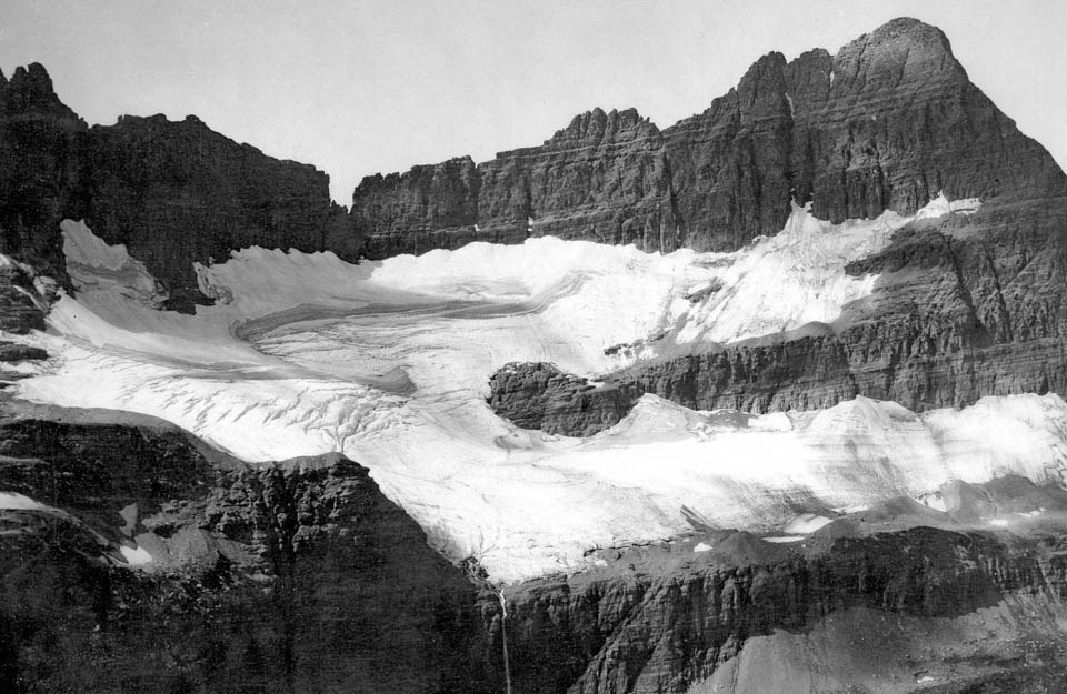
M 41 62 L 90 124 L 195 113 L 266 153 L 363 175 L 539 144 L 595 107 L 660 128 L 760 56 L 830 52 L 894 17 L 1067 163 L 1067 2 L 0 0 L 0 69 Z

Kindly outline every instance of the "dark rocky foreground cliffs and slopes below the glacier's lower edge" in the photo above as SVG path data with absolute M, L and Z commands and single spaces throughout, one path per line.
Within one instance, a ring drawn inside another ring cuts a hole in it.
M 1067 676 L 1067 494 L 1021 479 L 957 485 L 947 513 L 887 502 L 796 544 L 695 523 L 501 590 L 429 550 L 343 457 L 253 469 L 150 418 L 6 409 L 3 691 L 1050 692 Z M 1029 515 L 979 530 L 990 511 Z

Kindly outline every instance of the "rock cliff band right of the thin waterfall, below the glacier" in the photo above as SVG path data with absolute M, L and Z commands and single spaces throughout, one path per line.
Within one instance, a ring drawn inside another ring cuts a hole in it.
M 732 543 L 735 550 L 762 544 L 746 533 L 736 533 L 724 543 Z M 1033 638 L 1038 632 L 1027 630 L 1036 630 L 1039 623 L 1056 632 L 1055 618 L 1044 618 L 1046 607 L 1036 605 L 1055 605 L 1064 596 L 1067 563 L 1055 542 L 1040 550 L 1036 543 L 1020 550 L 981 533 L 915 527 L 838 539 L 825 552 L 807 557 L 707 562 L 677 572 L 645 573 L 632 571 L 631 565 L 621 575 L 607 574 L 600 580 L 587 575 L 535 582 L 509 593 L 507 634 L 513 691 L 686 692 L 716 671 L 731 667 L 748 641 L 776 630 L 786 630 L 791 641 L 806 634 L 821 638 L 827 666 L 844 661 L 857 642 L 870 644 L 868 647 L 878 644 L 881 650 L 870 654 L 866 673 L 875 676 L 891 673 L 898 661 L 907 660 L 908 642 L 921 642 L 935 624 L 944 626 L 979 610 L 999 606 L 1013 615 L 1000 618 L 1019 620 L 1018 642 Z M 819 630 L 850 618 L 857 610 L 870 611 L 867 626 L 837 641 L 820 636 Z M 485 612 L 489 632 L 499 637 L 499 610 L 486 602 Z M 886 638 L 889 623 L 903 631 L 896 642 Z M 869 627 L 877 631 L 867 633 Z M 886 641 L 889 643 L 881 643 Z M 1037 660 L 1038 646 L 1015 645 L 1035 653 Z M 1063 635 L 1039 647 L 1049 654 L 1061 652 Z M 980 646 L 971 645 L 966 656 L 988 667 L 985 674 L 975 675 L 971 684 L 1003 676 L 1023 682 L 1030 675 L 1048 675 L 1045 668 L 1029 673 L 1033 662 L 1021 657 L 1015 662 L 1005 655 L 1003 651 L 981 653 Z M 930 652 L 925 656 L 934 663 L 938 658 Z M 879 662 L 882 658 L 885 662 Z M 1064 675 L 1060 661 L 1046 660 L 1040 665 L 1050 665 L 1057 676 Z M 808 661 L 798 676 L 807 681 L 820 674 L 820 668 Z M 901 667 L 909 681 L 915 668 L 921 670 L 921 661 Z M 1005 675 L 1005 671 L 1011 674 Z M 956 680 L 965 681 L 959 675 Z

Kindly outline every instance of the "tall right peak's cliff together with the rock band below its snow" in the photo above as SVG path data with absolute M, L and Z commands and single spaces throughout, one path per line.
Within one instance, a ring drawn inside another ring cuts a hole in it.
M 850 263 L 878 280 L 831 325 L 665 350 L 611 374 L 617 386 L 757 412 L 1067 392 L 1067 182 L 939 30 L 898 19 L 836 56 L 771 53 L 660 141 L 677 238 L 700 250 L 777 233 L 790 201 L 835 222 L 909 214 L 938 191 L 981 207 L 913 222 Z

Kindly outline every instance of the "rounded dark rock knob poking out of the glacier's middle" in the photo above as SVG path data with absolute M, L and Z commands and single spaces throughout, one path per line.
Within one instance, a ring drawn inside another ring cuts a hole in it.
M 635 389 L 590 383 L 544 362 L 502 366 L 489 390 L 489 406 L 516 426 L 567 436 L 591 436 L 617 424 L 637 401 Z

